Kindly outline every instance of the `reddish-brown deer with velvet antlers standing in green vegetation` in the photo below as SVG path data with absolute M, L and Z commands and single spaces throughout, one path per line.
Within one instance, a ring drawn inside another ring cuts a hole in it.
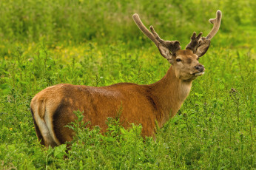
M 121 108 L 121 126 L 128 129 L 131 123 L 141 124 L 141 135 L 155 137 L 156 126 L 164 126 L 181 108 L 189 95 L 192 81 L 203 75 L 205 68 L 199 63 L 209 48 L 211 39 L 218 33 L 221 12 L 209 20 L 213 24 L 210 33 L 192 33 L 186 50 L 181 50 L 179 41 L 161 39 L 152 26 L 144 26 L 138 14 L 132 17 L 144 35 L 153 41 L 160 54 L 169 61 L 170 67 L 160 81 L 149 85 L 119 83 L 110 86 L 85 86 L 57 84 L 38 92 L 30 103 L 36 135 L 46 147 L 59 146 L 73 140 L 73 130 L 67 125 L 81 111 L 84 122 L 90 127 L 99 126 L 107 131 L 107 118 L 115 118 Z

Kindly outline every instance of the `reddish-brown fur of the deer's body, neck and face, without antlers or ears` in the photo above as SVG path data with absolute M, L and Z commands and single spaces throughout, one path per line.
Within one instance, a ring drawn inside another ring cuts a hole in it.
M 177 54 L 172 58 L 173 66 L 155 84 L 121 83 L 102 87 L 58 84 L 38 92 L 31 101 L 38 139 L 45 146 L 72 140 L 73 132 L 64 126 L 75 120 L 73 112 L 77 110 L 84 112 L 84 121 L 100 126 L 105 132 L 107 118 L 115 118 L 121 109 L 122 126 L 128 128 L 130 123 L 141 123 L 142 135 L 154 136 L 155 120 L 162 127 L 166 120 L 175 116 L 195 79 L 191 72 L 198 72 L 194 68 L 198 64 L 195 54 L 187 50 Z M 181 66 L 175 63 L 175 58 L 190 62 Z M 189 71 L 184 73 L 183 69 Z M 40 122 L 46 126 L 40 126 Z

